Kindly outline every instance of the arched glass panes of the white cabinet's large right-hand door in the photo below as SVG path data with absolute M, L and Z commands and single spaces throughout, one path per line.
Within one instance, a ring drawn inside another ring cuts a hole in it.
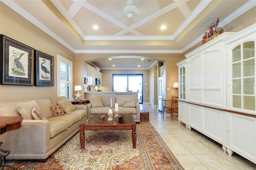
M 255 111 L 255 42 L 245 42 L 232 50 L 232 105 Z

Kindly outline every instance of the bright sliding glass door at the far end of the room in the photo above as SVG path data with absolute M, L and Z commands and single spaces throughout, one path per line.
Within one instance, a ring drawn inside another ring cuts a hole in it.
M 143 74 L 113 74 L 113 91 L 138 92 L 138 103 L 143 103 Z

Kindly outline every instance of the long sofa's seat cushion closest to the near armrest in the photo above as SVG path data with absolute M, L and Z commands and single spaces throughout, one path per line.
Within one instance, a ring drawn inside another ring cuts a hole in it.
M 49 121 L 50 122 L 50 136 L 53 138 L 57 134 L 68 129 L 68 123 L 66 121 Z

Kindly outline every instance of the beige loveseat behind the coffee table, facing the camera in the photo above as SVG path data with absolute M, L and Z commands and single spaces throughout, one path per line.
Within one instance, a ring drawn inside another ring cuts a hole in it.
M 111 107 L 115 107 L 118 103 L 118 114 L 133 113 L 134 121 L 140 122 L 140 104 L 138 103 L 138 95 L 115 95 L 115 94 L 101 94 L 89 97 L 90 103 L 87 105 L 88 115 L 95 113 L 108 114 Z M 115 108 L 113 108 L 113 112 Z

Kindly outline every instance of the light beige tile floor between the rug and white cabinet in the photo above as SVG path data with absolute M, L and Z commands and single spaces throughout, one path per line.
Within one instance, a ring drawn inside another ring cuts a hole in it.
M 222 145 L 200 132 L 188 130 L 178 118 L 173 121 L 170 114 L 164 117 L 151 105 L 140 105 L 149 112 L 149 121 L 162 136 L 170 150 L 186 170 L 256 170 L 256 164 L 234 154 L 224 153 Z

